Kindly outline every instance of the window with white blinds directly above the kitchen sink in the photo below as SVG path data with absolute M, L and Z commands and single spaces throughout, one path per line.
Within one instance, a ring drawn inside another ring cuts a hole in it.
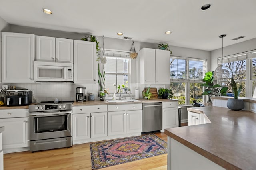
M 105 87 L 108 88 L 109 93 L 116 93 L 118 85 L 122 86 L 128 83 L 129 53 L 105 51 L 104 57 L 107 58 L 107 63 L 104 64 Z

